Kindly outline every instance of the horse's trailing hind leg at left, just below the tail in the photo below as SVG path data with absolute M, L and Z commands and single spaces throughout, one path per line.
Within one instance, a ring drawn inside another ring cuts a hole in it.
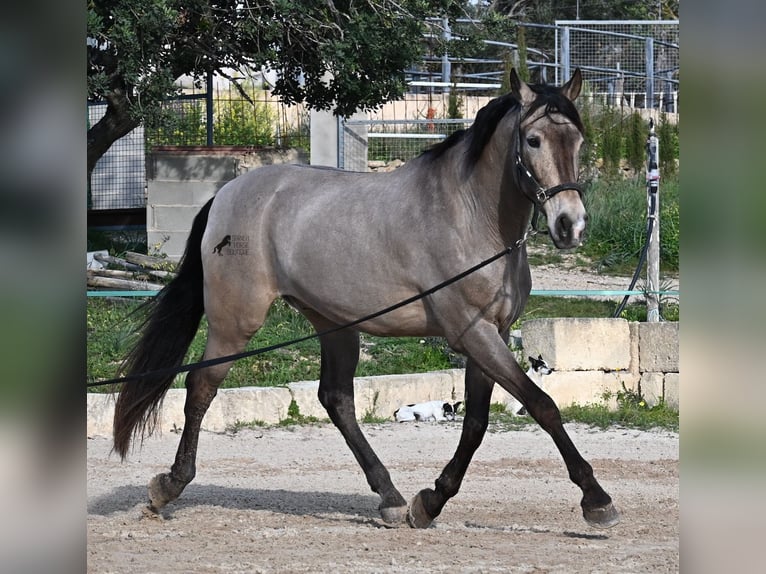
M 268 306 L 266 307 L 268 309 Z M 265 311 L 263 312 L 265 315 Z M 239 353 L 257 327 L 243 330 L 237 322 L 219 323 L 210 317 L 208 339 L 203 359 L 213 359 Z M 260 325 L 260 322 L 258 323 Z M 184 404 L 184 428 L 176 452 L 175 462 L 169 473 L 158 474 L 149 482 L 149 508 L 157 511 L 178 498 L 196 474 L 197 444 L 202 419 L 218 392 L 218 387 L 229 372 L 232 363 L 223 363 L 204 369 L 190 371 L 186 376 L 186 402 Z

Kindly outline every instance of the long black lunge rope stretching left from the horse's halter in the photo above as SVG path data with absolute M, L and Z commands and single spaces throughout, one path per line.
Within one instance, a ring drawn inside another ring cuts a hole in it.
M 198 361 L 196 363 L 189 363 L 186 365 L 181 365 L 180 367 L 168 367 L 166 369 L 157 369 L 156 371 L 148 371 L 145 373 L 135 373 L 133 375 L 127 375 L 125 377 L 117 377 L 114 379 L 105 379 L 103 381 L 94 381 L 92 383 L 87 383 L 86 387 L 98 387 L 101 385 L 116 385 L 118 383 L 128 383 L 130 381 L 135 381 L 138 379 L 142 379 L 144 377 L 157 377 L 157 376 L 165 376 L 165 375 L 177 375 L 179 373 L 185 373 L 188 371 L 194 371 L 196 369 L 203 369 L 205 367 L 212 367 L 214 365 L 220 365 L 221 363 L 229 363 L 232 361 L 236 361 L 238 359 L 243 359 L 245 357 L 252 357 L 255 355 L 262 355 L 264 353 L 269 353 L 271 351 L 276 351 L 277 349 L 282 349 L 284 347 L 289 347 L 290 345 L 295 345 L 297 343 L 302 343 L 304 341 L 309 341 L 311 339 L 316 339 L 319 337 L 323 337 L 325 335 L 329 335 L 331 333 L 336 333 L 338 331 L 342 331 L 343 329 L 348 329 L 350 327 L 355 327 L 356 325 L 359 325 L 361 323 L 364 323 L 366 321 L 370 321 L 372 319 L 376 319 L 380 317 L 381 315 L 385 315 L 386 313 L 390 313 L 391 311 L 396 311 L 397 309 L 400 309 L 401 307 L 404 307 L 406 305 L 409 305 L 410 303 L 414 303 L 416 301 L 419 301 L 420 299 L 423 299 L 425 297 L 428 297 L 429 295 L 433 295 L 437 291 L 444 289 L 445 287 L 452 285 L 453 283 L 460 281 L 464 277 L 467 277 L 471 273 L 474 273 L 481 269 L 482 267 L 486 267 L 490 263 L 493 263 L 500 259 L 501 257 L 504 257 L 505 255 L 510 254 L 514 249 L 518 249 L 521 247 L 527 239 L 530 237 L 530 235 L 534 235 L 534 231 L 527 231 L 516 243 L 510 247 L 506 247 L 499 253 L 496 253 L 489 259 L 485 259 L 481 263 L 474 265 L 470 269 L 466 269 L 462 273 L 455 275 L 454 277 L 451 277 L 450 279 L 447 279 L 446 281 L 443 281 L 442 283 L 439 283 L 438 285 L 431 287 L 427 291 L 423 291 L 422 293 L 418 293 L 417 295 L 413 295 L 412 297 L 408 297 L 407 299 L 404 299 L 403 301 L 399 301 L 398 303 L 395 303 L 394 305 L 391 305 L 390 307 L 386 307 L 385 309 L 382 309 L 380 311 L 376 311 L 375 313 L 370 313 L 369 315 L 365 315 L 361 319 L 356 319 L 354 321 L 351 321 L 350 323 L 346 323 L 345 325 L 339 325 L 337 327 L 333 327 L 332 329 L 327 329 L 326 331 L 322 331 L 320 333 L 314 333 L 313 335 L 306 335 L 305 337 L 300 337 L 298 339 L 293 339 L 291 341 L 284 341 L 282 343 L 275 343 L 274 345 L 269 345 L 268 347 L 261 347 L 259 349 L 253 349 L 251 351 L 244 351 L 242 353 L 236 353 L 234 355 L 225 355 L 223 357 L 217 357 L 215 359 L 207 359 L 205 361 Z

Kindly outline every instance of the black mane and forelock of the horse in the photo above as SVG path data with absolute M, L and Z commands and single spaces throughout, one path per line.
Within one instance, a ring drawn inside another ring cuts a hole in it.
M 537 94 L 537 97 L 524 114 L 524 118 L 531 116 L 538 109 L 545 106 L 546 114 L 560 113 L 570 120 L 581 132 L 584 131 L 577 108 L 569 98 L 561 94 L 558 88 L 548 84 L 534 84 L 529 87 Z M 443 142 L 428 148 L 421 156 L 433 161 L 442 157 L 458 143 L 466 141 L 468 147 L 465 153 L 465 161 L 470 169 L 479 161 L 484 148 L 489 143 L 489 140 L 492 139 L 500 120 L 508 112 L 518 112 L 520 108 L 519 100 L 512 94 L 505 94 L 494 98 L 479 110 L 470 128 L 454 132 Z

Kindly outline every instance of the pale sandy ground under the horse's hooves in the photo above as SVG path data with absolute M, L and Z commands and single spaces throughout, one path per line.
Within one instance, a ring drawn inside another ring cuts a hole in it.
M 432 486 L 460 423 L 364 425 L 406 498 Z M 490 432 L 460 493 L 425 530 L 388 528 L 331 425 L 203 433 L 197 478 L 147 518 L 146 484 L 172 462 L 167 429 L 125 463 L 88 440 L 88 572 L 524 572 L 679 570 L 678 435 L 567 426 L 622 522 L 582 519 L 548 435 Z

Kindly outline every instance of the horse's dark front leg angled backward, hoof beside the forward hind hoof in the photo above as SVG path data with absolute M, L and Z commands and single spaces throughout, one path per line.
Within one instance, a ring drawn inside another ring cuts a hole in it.
M 469 359 L 465 370 L 465 418 L 455 455 L 436 479 L 434 489 L 421 490 L 410 503 L 407 522 L 414 528 L 426 528 L 439 516 L 447 501 L 455 496 L 463 482 L 468 464 L 479 448 L 489 423 L 489 401 L 494 382 Z

